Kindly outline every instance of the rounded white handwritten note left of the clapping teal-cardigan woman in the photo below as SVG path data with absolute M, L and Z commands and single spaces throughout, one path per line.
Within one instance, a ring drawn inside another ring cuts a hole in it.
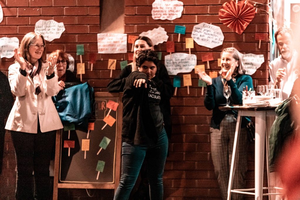
M 187 53 L 173 53 L 165 56 L 165 65 L 169 75 L 191 72 L 197 64 L 197 56 Z

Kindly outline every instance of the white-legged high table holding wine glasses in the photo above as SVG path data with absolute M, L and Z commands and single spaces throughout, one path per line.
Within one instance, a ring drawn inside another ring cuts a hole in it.
M 227 200 L 231 199 L 231 193 L 242 193 L 248 195 L 255 195 L 255 200 L 262 200 L 263 195 L 271 195 L 271 193 L 263 194 L 263 189 L 274 189 L 271 187 L 263 188 L 263 169 L 264 169 L 264 151 L 265 151 L 265 141 L 266 141 L 266 149 L 268 150 L 268 138 L 266 137 L 266 130 L 271 130 L 271 123 L 266 123 L 268 116 L 277 116 L 275 112 L 276 107 L 241 107 L 241 106 L 233 106 L 233 107 L 219 107 L 221 110 L 236 110 L 238 111 L 238 118 L 235 129 L 234 143 L 233 143 L 233 151 L 232 151 L 232 160 L 230 166 L 230 175 L 229 175 L 229 184 L 228 184 L 228 197 Z M 234 176 L 235 170 L 235 156 L 236 149 L 238 144 L 239 130 L 241 125 L 241 117 L 242 116 L 251 116 L 255 117 L 255 171 L 254 171 L 254 181 L 255 188 L 250 189 L 232 189 L 232 180 Z M 269 127 L 266 127 L 268 124 Z M 267 151 L 268 157 L 268 151 Z M 268 165 L 268 159 L 267 159 Z M 267 172 L 268 167 L 267 167 Z M 269 181 L 268 181 L 269 184 Z M 269 186 L 269 185 L 268 185 Z M 250 192 L 254 190 L 253 192 Z M 276 194 L 276 193 L 272 193 Z M 279 194 L 279 193 L 278 193 Z

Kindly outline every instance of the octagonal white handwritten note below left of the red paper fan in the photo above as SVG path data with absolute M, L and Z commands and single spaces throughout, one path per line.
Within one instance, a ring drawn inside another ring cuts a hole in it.
M 201 46 L 214 48 L 223 44 L 224 35 L 219 26 L 201 23 L 194 26 L 192 37 Z

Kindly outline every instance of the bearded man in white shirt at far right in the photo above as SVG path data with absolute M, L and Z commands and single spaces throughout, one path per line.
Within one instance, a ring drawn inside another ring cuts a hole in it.
M 280 56 L 269 64 L 270 82 L 282 90 L 282 99 L 289 97 L 293 84 L 298 77 L 298 53 L 293 46 L 293 33 L 290 28 L 279 28 L 275 40 Z M 275 86 L 276 87 L 276 86 Z

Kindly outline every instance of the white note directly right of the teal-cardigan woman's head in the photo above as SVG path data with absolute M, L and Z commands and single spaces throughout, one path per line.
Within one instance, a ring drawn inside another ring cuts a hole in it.
M 253 53 L 244 54 L 243 63 L 244 69 L 246 70 L 246 74 L 252 75 L 256 72 L 256 70 L 261 66 L 261 64 L 265 61 L 264 56 L 255 55 Z

